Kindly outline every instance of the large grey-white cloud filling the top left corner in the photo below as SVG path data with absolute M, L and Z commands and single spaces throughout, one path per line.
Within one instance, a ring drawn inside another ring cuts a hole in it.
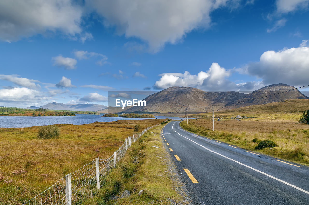
M 70 0 L 0 1 L 0 40 L 11 42 L 46 31 L 74 36 L 82 31 L 82 13 Z

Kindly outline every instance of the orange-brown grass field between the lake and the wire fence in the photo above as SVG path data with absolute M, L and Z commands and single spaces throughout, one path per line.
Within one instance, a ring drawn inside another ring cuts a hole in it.
M 91 162 L 108 158 L 125 138 L 132 136 L 134 125 L 142 131 L 162 120 L 95 122 L 59 125 L 57 139 L 38 139 L 38 128 L 0 129 L 0 201 L 21 204 L 54 182 Z M 138 131 L 138 132 L 139 132 Z

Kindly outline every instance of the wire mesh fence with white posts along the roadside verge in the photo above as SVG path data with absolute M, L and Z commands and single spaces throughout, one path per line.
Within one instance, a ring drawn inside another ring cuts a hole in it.
M 89 164 L 84 165 L 73 173 L 67 174 L 51 187 L 24 203 L 27 205 L 57 205 L 79 204 L 86 197 L 91 197 L 105 183 L 110 170 L 115 168 L 116 163 L 125 155 L 133 142 L 138 140 L 145 132 L 158 125 L 147 127 L 142 132 L 128 137 L 125 142 L 108 159 L 95 158 Z

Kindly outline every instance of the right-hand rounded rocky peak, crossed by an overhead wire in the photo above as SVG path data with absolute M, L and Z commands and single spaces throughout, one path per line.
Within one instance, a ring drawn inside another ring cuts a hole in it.
M 309 99 L 303 93 L 299 92 L 294 86 L 290 86 L 287 84 L 272 84 L 265 86 L 264 88 L 260 88 L 255 90 L 248 95 L 231 102 L 232 104 L 224 106 L 223 109 L 233 109 L 246 107 L 249 105 L 263 105 L 272 102 L 280 102 L 282 100 L 293 100 L 293 99 Z M 291 90 L 291 91 L 288 91 Z M 285 92 L 288 91 L 288 92 Z M 283 92 L 283 93 L 280 93 Z M 277 94 L 280 93 L 280 94 Z M 276 94 L 276 95 L 273 95 Z M 268 96 L 268 97 L 263 97 Z M 260 98 L 263 97 L 263 98 Z M 259 98 L 259 99 L 256 99 Z M 256 99 L 256 100 L 253 100 Z

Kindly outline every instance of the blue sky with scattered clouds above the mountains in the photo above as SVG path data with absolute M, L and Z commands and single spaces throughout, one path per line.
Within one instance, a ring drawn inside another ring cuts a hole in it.
M 108 105 L 108 91 L 171 86 L 304 86 L 308 3 L 2 1 L 0 105 Z

